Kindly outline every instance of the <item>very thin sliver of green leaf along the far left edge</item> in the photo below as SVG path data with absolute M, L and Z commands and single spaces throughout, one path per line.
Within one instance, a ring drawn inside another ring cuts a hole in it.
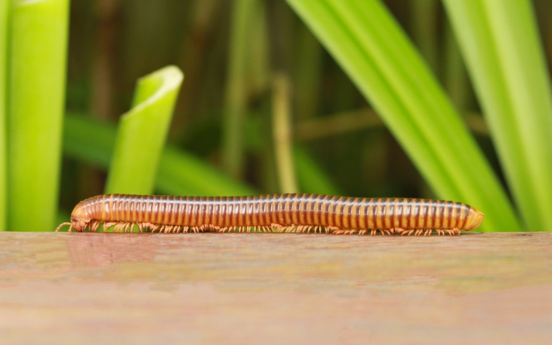
M 8 58 L 8 0 L 0 0 L 0 231 L 6 230 L 7 219 L 7 175 L 6 155 L 6 67 Z

